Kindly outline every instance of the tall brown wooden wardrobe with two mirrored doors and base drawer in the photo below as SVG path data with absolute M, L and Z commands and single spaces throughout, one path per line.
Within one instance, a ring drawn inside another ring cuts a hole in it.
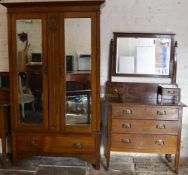
M 13 162 L 71 156 L 100 167 L 100 6 L 1 3 L 8 11 Z

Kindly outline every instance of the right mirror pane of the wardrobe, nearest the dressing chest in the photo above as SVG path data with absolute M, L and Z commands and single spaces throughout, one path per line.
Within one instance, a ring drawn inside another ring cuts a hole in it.
M 91 19 L 65 18 L 66 125 L 91 121 Z

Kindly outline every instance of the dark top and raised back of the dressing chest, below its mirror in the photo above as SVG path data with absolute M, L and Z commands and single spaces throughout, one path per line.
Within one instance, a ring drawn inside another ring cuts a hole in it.
M 107 82 L 105 103 L 113 106 L 132 106 L 138 109 L 146 106 L 155 108 L 181 108 L 186 107 L 182 102 L 174 103 L 166 98 L 160 103 L 157 98 L 159 84 L 155 83 L 119 83 Z

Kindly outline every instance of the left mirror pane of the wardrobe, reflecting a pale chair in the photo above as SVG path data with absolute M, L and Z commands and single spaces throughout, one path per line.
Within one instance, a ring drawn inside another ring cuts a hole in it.
M 43 123 L 42 21 L 16 20 L 20 123 Z

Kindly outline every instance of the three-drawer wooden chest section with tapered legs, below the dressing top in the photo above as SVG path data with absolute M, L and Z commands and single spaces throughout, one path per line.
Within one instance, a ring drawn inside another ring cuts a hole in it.
M 177 172 L 181 122 L 181 105 L 109 101 L 107 167 L 111 151 L 175 154 Z

